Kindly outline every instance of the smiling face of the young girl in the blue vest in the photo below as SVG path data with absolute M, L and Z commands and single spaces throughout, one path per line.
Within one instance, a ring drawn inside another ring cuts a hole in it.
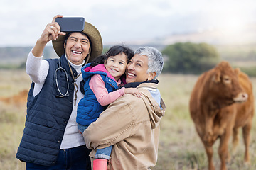
M 124 53 L 110 56 L 105 60 L 104 66 L 116 81 L 124 74 L 127 67 L 127 55 Z

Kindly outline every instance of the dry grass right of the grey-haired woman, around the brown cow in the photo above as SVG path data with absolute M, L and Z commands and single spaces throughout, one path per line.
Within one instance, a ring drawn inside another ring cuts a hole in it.
M 197 77 L 191 75 L 162 74 L 159 77 L 159 89 L 166 103 L 166 115 L 161 120 L 161 138 L 159 143 L 159 159 L 154 170 L 176 169 L 207 169 L 208 162 L 203 144 L 196 134 L 193 121 L 188 111 L 188 102 L 196 83 Z M 256 79 L 252 78 L 252 84 L 256 86 Z M 256 87 L 254 87 L 256 96 Z M 255 124 L 255 118 L 253 123 Z M 251 165 L 243 164 L 244 145 L 240 134 L 238 151 L 233 155 L 228 169 L 256 169 L 256 136 L 254 125 L 250 145 Z M 240 132 L 241 133 L 241 132 Z M 219 141 L 215 142 L 214 162 L 219 169 L 218 157 Z M 230 146 L 231 149 L 231 146 Z

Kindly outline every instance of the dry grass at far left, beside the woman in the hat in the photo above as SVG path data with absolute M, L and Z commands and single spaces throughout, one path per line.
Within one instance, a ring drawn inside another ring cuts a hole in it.
M 14 96 L 29 89 L 31 80 L 24 71 L 0 71 L 0 96 Z M 26 103 L 23 106 L 0 101 L 0 169 L 22 170 L 25 164 L 15 158 L 21 141 L 26 116 Z

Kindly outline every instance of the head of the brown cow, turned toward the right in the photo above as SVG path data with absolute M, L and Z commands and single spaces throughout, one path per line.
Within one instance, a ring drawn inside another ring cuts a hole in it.
M 248 95 L 243 91 L 238 80 L 239 69 L 233 69 L 228 62 L 220 62 L 213 69 L 209 95 L 213 96 L 220 107 L 233 103 L 242 103 Z

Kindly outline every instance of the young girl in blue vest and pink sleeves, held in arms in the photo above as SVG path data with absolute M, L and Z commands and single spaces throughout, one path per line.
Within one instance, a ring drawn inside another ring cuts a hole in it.
M 77 123 L 78 130 L 84 130 L 107 108 L 107 105 L 124 94 L 133 94 L 141 97 L 136 88 L 116 90 L 125 84 L 124 72 L 128 61 L 133 57 L 133 50 L 122 45 L 110 47 L 105 55 L 82 67 L 82 78 L 85 81 L 85 96 L 78 103 Z M 104 164 L 107 169 L 107 160 L 110 159 L 112 146 L 97 149 L 93 169 Z

